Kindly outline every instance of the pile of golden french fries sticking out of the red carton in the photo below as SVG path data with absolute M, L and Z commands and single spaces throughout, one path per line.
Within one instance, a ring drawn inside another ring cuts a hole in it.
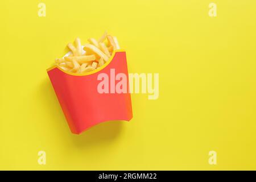
M 71 52 L 63 58 L 56 59 L 55 64 L 60 69 L 71 73 L 91 72 L 102 67 L 114 50 L 120 49 L 117 38 L 108 35 L 107 32 L 104 32 L 98 40 L 89 38 L 88 42 L 82 46 L 81 40 L 76 38 L 74 44 L 68 43 L 67 47 Z M 82 49 L 85 53 L 82 53 Z

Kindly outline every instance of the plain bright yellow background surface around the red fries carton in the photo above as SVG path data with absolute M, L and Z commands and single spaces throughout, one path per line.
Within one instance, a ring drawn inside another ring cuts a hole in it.
M 210 2 L 3 0 L 0 169 L 256 169 L 256 1 L 215 0 L 216 18 Z M 74 135 L 46 69 L 105 30 L 130 73 L 159 73 L 159 99 L 133 94 L 131 122 Z

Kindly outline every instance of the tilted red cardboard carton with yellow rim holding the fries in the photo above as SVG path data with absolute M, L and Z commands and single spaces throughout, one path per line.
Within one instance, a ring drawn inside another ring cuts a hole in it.
M 83 75 L 63 71 L 57 65 L 47 73 L 72 133 L 80 134 L 105 121 L 133 118 L 125 51 L 114 51 L 102 67 Z M 98 92 L 101 73 L 109 77 L 109 93 Z M 118 73 L 125 74 L 128 92 L 113 92 Z

